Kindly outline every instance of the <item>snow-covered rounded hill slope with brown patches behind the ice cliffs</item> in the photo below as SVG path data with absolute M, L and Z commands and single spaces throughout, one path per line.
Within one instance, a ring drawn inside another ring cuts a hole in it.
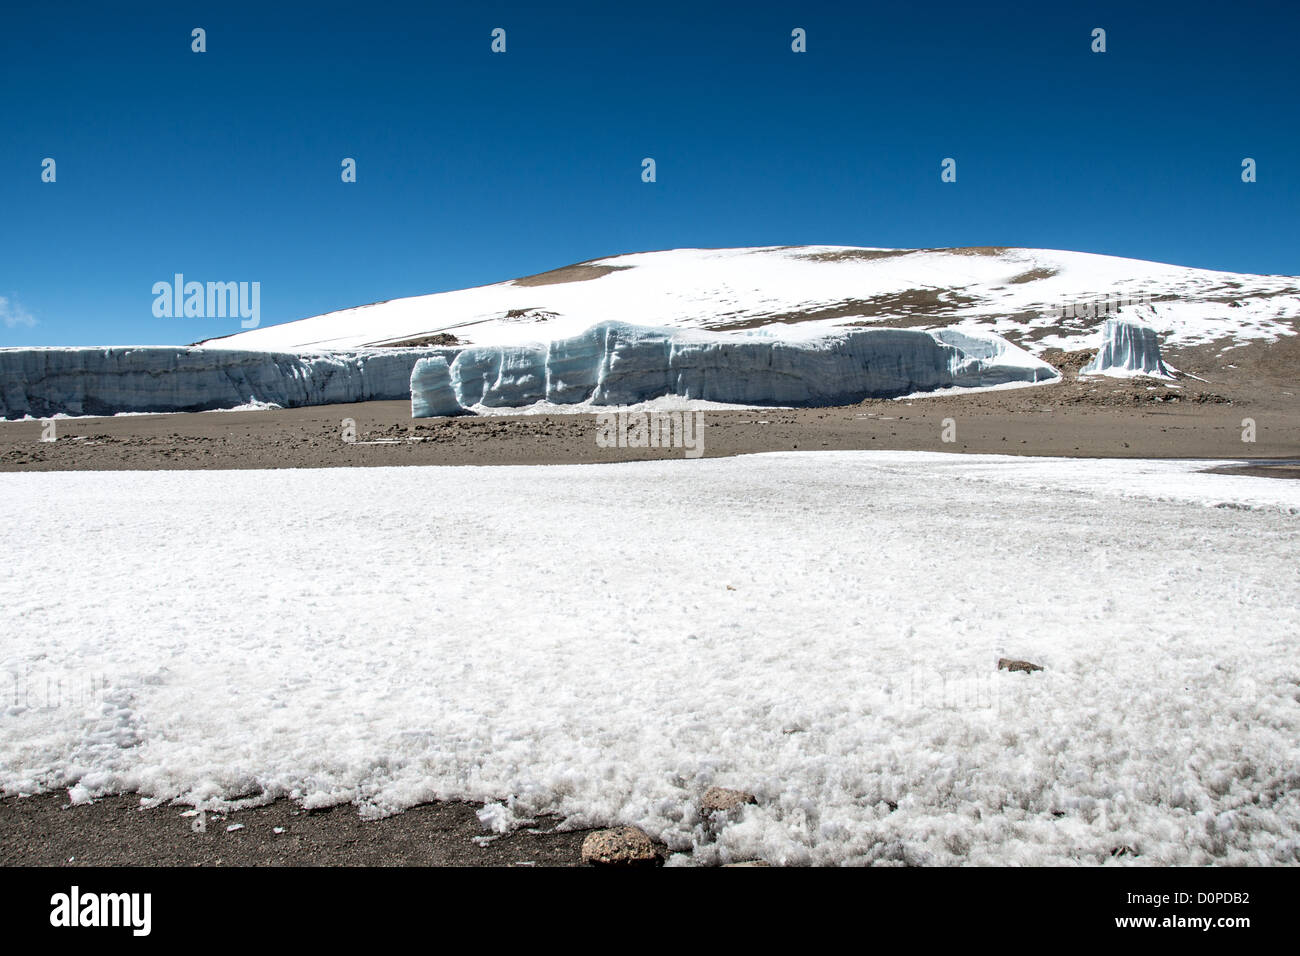
M 1295 332 L 1300 280 L 1032 248 L 679 248 L 347 308 L 209 343 L 356 349 L 448 333 L 465 345 L 524 345 L 603 321 L 712 330 L 867 323 L 972 326 L 1031 350 L 1069 350 L 1087 347 L 1101 313 L 1117 303 L 1148 300 L 1166 345 L 1270 339 Z

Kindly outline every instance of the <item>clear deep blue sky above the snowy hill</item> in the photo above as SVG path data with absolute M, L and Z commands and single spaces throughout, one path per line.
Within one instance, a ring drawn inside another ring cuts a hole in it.
M 238 330 L 155 319 L 177 272 L 261 282 L 263 324 L 680 246 L 1300 273 L 1297 26 L 1294 0 L 12 3 L 0 346 Z

